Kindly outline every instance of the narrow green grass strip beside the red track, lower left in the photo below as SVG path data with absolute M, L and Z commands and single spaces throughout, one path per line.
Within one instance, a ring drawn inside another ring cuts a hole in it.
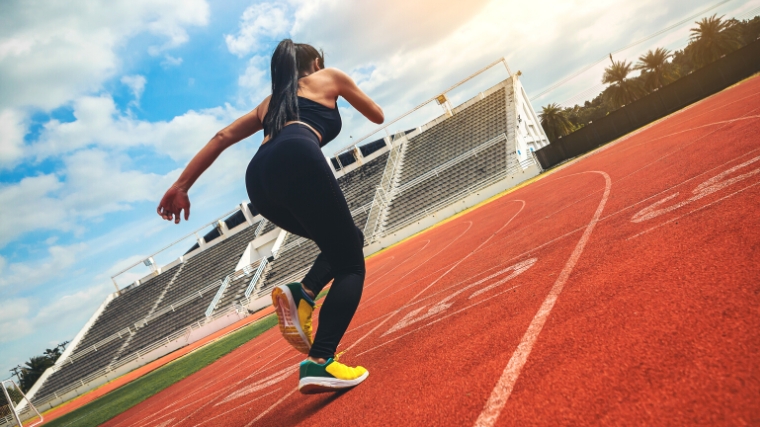
M 98 426 L 170 385 L 205 368 L 275 325 L 277 325 L 277 316 L 264 317 L 45 425 L 51 427 Z

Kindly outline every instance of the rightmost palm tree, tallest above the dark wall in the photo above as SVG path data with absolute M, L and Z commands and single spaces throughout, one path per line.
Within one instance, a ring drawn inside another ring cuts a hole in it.
M 704 67 L 742 46 L 741 34 L 736 26 L 731 21 L 724 21 L 722 16 L 718 18 L 716 14 L 702 18 L 695 24 L 697 27 L 691 29 L 689 43 L 692 60 L 698 67 Z

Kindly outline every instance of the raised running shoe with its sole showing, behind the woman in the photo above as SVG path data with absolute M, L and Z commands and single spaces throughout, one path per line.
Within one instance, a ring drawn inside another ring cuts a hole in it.
M 300 283 L 290 283 L 274 288 L 272 303 L 282 336 L 296 350 L 309 354 L 314 342 L 311 337 L 314 301 L 306 295 Z

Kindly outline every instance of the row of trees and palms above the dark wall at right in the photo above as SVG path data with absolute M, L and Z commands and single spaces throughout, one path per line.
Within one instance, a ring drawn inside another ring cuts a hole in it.
M 574 132 L 612 111 L 630 104 L 679 78 L 710 64 L 760 37 L 760 16 L 739 21 L 713 15 L 696 21 L 688 45 L 670 52 L 665 48 L 650 50 L 637 63 L 615 61 L 604 70 L 602 83 L 608 86 L 583 105 L 562 107 L 557 103 L 542 107 L 541 126 L 549 141 Z M 633 75 L 639 71 L 638 75 Z

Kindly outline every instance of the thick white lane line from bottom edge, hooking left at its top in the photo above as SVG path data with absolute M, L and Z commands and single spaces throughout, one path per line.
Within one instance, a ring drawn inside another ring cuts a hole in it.
M 528 361 L 528 356 L 538 339 L 538 334 L 541 333 L 541 329 L 544 327 L 546 319 L 549 318 L 549 314 L 551 313 L 552 308 L 554 308 L 554 304 L 557 302 L 559 294 L 565 287 L 565 283 L 567 283 L 570 273 L 572 273 L 575 264 L 583 253 L 583 249 L 586 247 L 586 243 L 588 243 L 588 239 L 591 237 L 591 233 L 594 231 L 596 223 L 599 222 L 599 218 L 602 216 L 604 205 L 610 197 L 612 180 L 606 172 L 588 171 L 587 173 L 598 173 L 604 177 L 605 188 L 602 200 L 599 202 L 599 206 L 596 208 L 596 212 L 594 212 L 591 221 L 586 226 L 586 230 L 583 232 L 578 244 L 575 245 L 573 253 L 570 254 L 570 258 L 568 258 L 565 267 L 559 273 L 559 277 L 557 277 L 557 281 L 554 282 L 554 286 L 552 286 L 549 291 L 549 295 L 546 296 L 546 299 L 544 299 L 544 302 L 538 309 L 538 313 L 536 313 L 535 317 L 533 317 L 533 320 L 530 322 L 528 330 L 525 331 L 525 335 L 523 335 L 520 344 L 517 346 L 517 350 L 512 354 L 512 358 L 509 359 L 507 367 L 504 368 L 504 372 L 502 372 L 499 381 L 491 392 L 491 396 L 488 398 L 488 401 L 483 408 L 483 412 L 480 413 L 480 416 L 475 421 L 476 427 L 493 426 L 499 418 L 499 414 L 507 403 L 509 395 L 512 394 L 512 389 L 517 382 L 517 378 L 520 376 L 520 371 L 523 366 L 525 366 L 525 362 Z

